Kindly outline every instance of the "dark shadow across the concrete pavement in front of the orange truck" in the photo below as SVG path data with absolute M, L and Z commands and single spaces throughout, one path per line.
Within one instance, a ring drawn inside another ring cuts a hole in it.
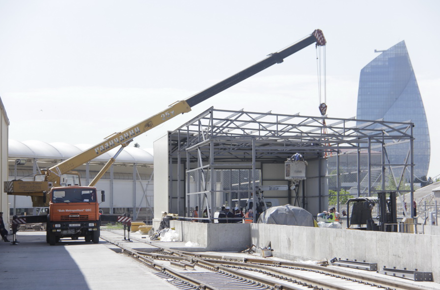
M 12 240 L 12 236 L 8 237 Z M 84 240 L 46 243 L 45 232 L 17 234 L 17 245 L 0 244 L 0 288 L 4 290 L 89 290 L 66 245 L 86 245 Z

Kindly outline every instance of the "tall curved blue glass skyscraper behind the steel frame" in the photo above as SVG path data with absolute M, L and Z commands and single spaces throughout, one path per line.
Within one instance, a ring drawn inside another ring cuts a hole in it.
M 383 51 L 361 71 L 357 118 L 414 123 L 414 181 L 425 179 L 430 160 L 428 122 L 404 41 Z M 389 146 L 393 164 L 403 164 L 408 144 Z M 409 172 L 405 173 L 409 177 Z

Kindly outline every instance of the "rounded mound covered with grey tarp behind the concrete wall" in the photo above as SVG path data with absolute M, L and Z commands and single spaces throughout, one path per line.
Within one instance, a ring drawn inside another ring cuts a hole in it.
M 258 223 L 315 226 L 311 213 L 290 204 L 269 208 L 260 215 Z

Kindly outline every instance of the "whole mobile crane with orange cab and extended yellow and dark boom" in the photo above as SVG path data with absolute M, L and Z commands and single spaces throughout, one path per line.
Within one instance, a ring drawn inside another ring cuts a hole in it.
M 93 186 L 104 175 L 119 152 L 139 136 L 148 130 L 168 121 L 181 113 L 186 113 L 191 108 L 221 91 L 261 72 L 274 64 L 284 61 L 284 58 L 293 53 L 316 43 L 316 46 L 326 45 L 326 39 L 321 30 L 315 30 L 311 35 L 275 53 L 271 53 L 262 61 L 238 72 L 219 83 L 183 100 L 170 105 L 167 109 L 149 117 L 142 122 L 129 127 L 121 132 L 114 133 L 103 142 L 55 165 L 42 170 L 42 174 L 36 175 L 34 181 L 6 181 L 4 191 L 9 195 L 31 196 L 34 207 L 49 206 L 47 216 L 16 217 L 16 223 L 46 222 L 46 241 L 54 245 L 60 238 L 85 237 L 86 241 L 98 243 L 99 227 L 101 220 L 107 215 L 99 215 L 99 203 L 97 189 Z M 71 171 L 78 166 L 108 152 L 120 145 L 119 151 L 91 181 L 89 186 L 80 186 L 79 176 Z M 70 177 L 72 181 L 66 181 Z M 66 186 L 71 183 L 71 186 Z M 102 192 L 102 201 L 104 201 Z M 119 218 L 119 217 L 117 217 Z M 108 218 L 108 220 L 111 218 Z

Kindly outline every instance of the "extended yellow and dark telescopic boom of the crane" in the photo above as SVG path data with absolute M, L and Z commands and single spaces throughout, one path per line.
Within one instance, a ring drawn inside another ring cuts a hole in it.
M 132 127 L 110 135 L 100 144 L 97 144 L 63 162 L 60 162 L 49 169 L 42 170 L 43 178 L 41 178 L 41 180 L 44 181 L 6 181 L 4 184 L 5 191 L 11 195 L 33 196 L 34 206 L 36 206 L 35 197 L 42 197 L 44 194 L 43 192 L 48 191 L 51 187 L 61 186 L 60 179 L 63 174 L 66 174 L 78 166 L 87 163 L 101 154 L 104 154 L 112 148 L 115 148 L 119 145 L 122 147 L 127 146 L 136 136 L 147 132 L 148 130 L 168 121 L 178 114 L 189 112 L 195 105 L 211 98 L 227 88 L 230 88 L 231 86 L 247 79 L 248 77 L 253 76 L 256 73 L 271 67 L 274 64 L 282 63 L 286 57 L 313 43 L 316 43 L 317 46 L 326 45 L 326 39 L 321 30 L 317 29 L 311 35 L 283 50 L 271 53 L 265 59 L 252 65 L 251 67 L 238 72 L 183 101 L 170 105 L 167 109 Z M 92 183 L 96 183 L 96 181 Z M 42 201 L 42 198 L 37 199 Z

